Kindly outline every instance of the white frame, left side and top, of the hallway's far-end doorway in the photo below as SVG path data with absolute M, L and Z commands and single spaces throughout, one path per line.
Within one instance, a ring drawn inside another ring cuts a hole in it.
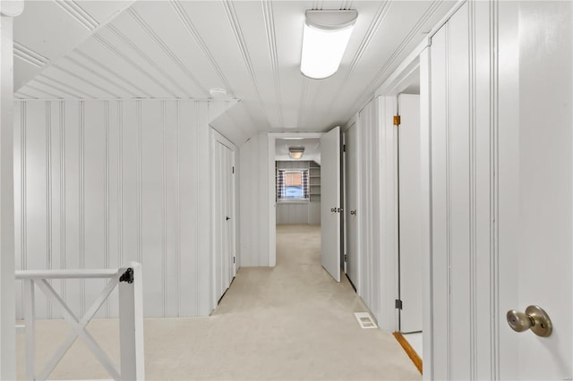
M 277 266 L 277 200 L 273 195 L 276 191 L 275 161 L 276 140 L 285 138 L 321 139 L 322 132 L 269 132 L 269 267 Z

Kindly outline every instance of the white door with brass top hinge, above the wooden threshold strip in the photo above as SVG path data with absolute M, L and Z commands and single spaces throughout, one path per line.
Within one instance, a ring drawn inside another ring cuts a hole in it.
M 398 97 L 399 329 L 422 331 L 422 193 L 420 181 L 420 96 Z

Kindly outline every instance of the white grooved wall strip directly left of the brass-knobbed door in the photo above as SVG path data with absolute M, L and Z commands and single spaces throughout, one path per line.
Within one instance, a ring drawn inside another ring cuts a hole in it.
M 468 2 L 432 37 L 432 379 L 495 377 L 495 12 Z

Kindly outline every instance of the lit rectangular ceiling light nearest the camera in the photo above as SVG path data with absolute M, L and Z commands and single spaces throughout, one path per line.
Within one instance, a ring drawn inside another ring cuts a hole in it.
M 355 27 L 356 10 L 306 11 L 301 72 L 321 80 L 338 71 Z

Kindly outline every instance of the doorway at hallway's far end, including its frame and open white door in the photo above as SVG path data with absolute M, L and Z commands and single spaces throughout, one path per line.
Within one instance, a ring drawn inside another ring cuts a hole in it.
M 324 161 L 326 165 L 322 165 Z M 325 133 L 269 134 L 271 267 L 277 264 L 277 224 L 320 226 L 321 266 L 340 282 L 343 265 L 340 163 L 339 127 Z

